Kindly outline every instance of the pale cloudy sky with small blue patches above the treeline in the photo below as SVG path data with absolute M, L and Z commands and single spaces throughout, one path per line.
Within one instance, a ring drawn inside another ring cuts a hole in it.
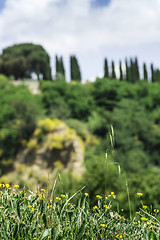
M 13 44 L 42 45 L 62 56 L 67 81 L 76 55 L 83 81 L 104 74 L 104 58 L 118 65 L 138 57 L 160 67 L 160 0 L 0 0 L 0 53 Z

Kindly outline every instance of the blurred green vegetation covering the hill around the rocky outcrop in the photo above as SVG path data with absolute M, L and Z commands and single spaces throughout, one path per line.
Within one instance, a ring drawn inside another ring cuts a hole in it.
M 57 58 L 57 64 L 63 65 L 62 58 Z M 37 95 L 24 85 L 12 85 L 8 75 L 0 75 L 0 181 L 9 182 L 5 176 L 13 170 L 17 154 L 33 136 L 39 120 L 59 119 L 83 140 L 86 170 L 77 177 L 72 172 L 64 173 L 65 166 L 57 167 L 57 194 L 73 194 L 86 186 L 94 206 L 95 195 L 115 192 L 119 213 L 129 216 L 139 209 L 137 192 L 142 192 L 144 205 L 160 208 L 158 70 L 153 69 L 154 81 L 149 83 L 139 79 L 136 59 L 126 62 L 126 66 L 128 75 L 122 72 L 119 80 L 113 63 L 112 76 L 106 69 L 105 78 L 82 84 L 80 74 L 67 83 L 64 67 L 57 65 L 61 69 L 57 71 L 62 72 L 57 72 L 54 81 L 40 80 Z M 145 66 L 144 70 L 147 78 Z M 41 137 L 45 139 L 45 133 Z M 18 184 L 23 187 L 24 182 Z M 47 183 L 43 185 L 46 187 Z

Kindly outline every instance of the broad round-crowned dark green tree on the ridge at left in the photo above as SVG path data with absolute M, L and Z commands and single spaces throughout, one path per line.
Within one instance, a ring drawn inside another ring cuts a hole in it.
M 3 49 L 1 55 L 1 72 L 6 76 L 14 75 L 16 79 L 31 78 L 35 73 L 43 79 L 51 79 L 50 58 L 40 45 L 23 43 Z

